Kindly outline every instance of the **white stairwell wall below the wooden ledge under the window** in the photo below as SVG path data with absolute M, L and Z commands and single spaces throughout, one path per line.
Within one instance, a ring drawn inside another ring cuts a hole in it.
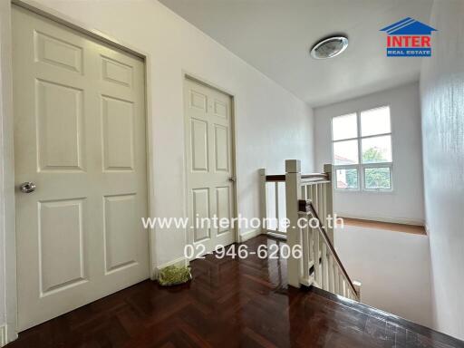
M 363 304 L 432 325 L 429 237 L 345 226 L 334 239 L 346 271 L 362 282 Z

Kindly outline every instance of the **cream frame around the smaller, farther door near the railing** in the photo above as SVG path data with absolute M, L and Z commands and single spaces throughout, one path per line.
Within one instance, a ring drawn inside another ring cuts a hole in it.
M 206 79 L 203 79 L 201 77 L 198 77 L 194 73 L 189 73 L 185 70 L 182 70 L 182 88 L 185 86 L 185 82 L 187 80 L 197 82 L 203 86 L 206 86 L 208 88 L 211 88 L 213 90 L 216 90 L 218 92 L 227 94 L 230 98 L 230 131 L 232 132 L 231 134 L 231 143 L 232 143 L 232 176 L 237 178 L 237 128 L 236 128 L 236 105 L 237 105 L 237 96 L 233 92 L 228 92 L 227 89 L 218 86 L 218 84 L 214 82 L 209 82 Z M 184 128 L 184 209 L 185 209 L 185 216 L 189 216 L 189 163 L 187 163 L 187 151 L 189 151 L 189 143 L 187 141 L 187 130 L 185 127 L 185 119 L 186 119 L 186 112 L 187 110 L 185 109 L 186 105 L 186 98 L 187 96 L 183 94 L 183 100 L 182 100 L 182 107 L 183 107 L 183 128 Z M 238 217 L 238 178 L 237 181 L 233 184 L 233 198 L 234 198 L 234 214 L 232 218 L 237 218 Z M 234 227 L 234 239 L 235 242 L 239 242 L 239 228 L 236 226 Z M 189 227 L 186 227 L 185 230 L 185 245 L 193 245 L 193 232 Z M 186 259 L 187 262 L 189 262 L 188 259 Z

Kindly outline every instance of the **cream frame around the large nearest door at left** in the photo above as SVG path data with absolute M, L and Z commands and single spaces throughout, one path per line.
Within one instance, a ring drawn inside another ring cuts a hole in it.
M 152 140 L 152 127 L 153 120 L 149 115 L 152 115 L 151 105 L 151 78 L 150 78 L 150 53 L 146 53 L 130 43 L 121 42 L 121 40 L 111 37 L 111 35 L 104 34 L 99 30 L 88 27 L 86 24 L 79 23 L 73 18 L 61 14 L 50 7 L 36 3 L 34 0 L 11 0 L 5 4 L 7 7 L 7 14 L 5 14 L 8 23 L 5 24 L 4 29 L 0 32 L 0 48 L 2 60 L 0 62 L 0 70 L 2 74 L 2 81 L 0 85 L 0 116 L 2 121 L 0 124 L 0 140 L 2 141 L 2 148 L 0 153 L 0 189 L 3 189 L 4 206 L 0 204 L 0 218 L 4 218 L 3 229 L 5 235 L 5 266 L 1 271 L 5 272 L 5 326 L 0 327 L 0 345 L 1 343 L 9 343 L 14 341 L 18 336 L 17 328 L 17 282 L 16 282 L 16 243 L 15 243 L 15 206 L 14 206 L 14 111 L 13 111 L 13 64 L 12 64 L 12 25 L 11 16 L 13 6 L 19 6 L 26 10 L 39 14 L 44 18 L 52 20 L 58 24 L 67 26 L 81 34 L 90 36 L 92 39 L 101 43 L 105 43 L 124 51 L 131 53 L 143 60 L 144 78 L 145 78 L 145 127 L 146 127 L 146 156 L 147 156 L 147 204 L 149 217 L 155 216 L 154 205 L 154 185 L 152 174 L 154 172 L 154 158 L 153 158 L 153 140 Z M 4 18 L 2 18 L 4 19 Z M 6 62 L 3 62 L 6 61 Z M 4 77 L 6 79 L 4 81 Z M 1 202 L 0 202 L 1 203 Z M 153 228 L 149 231 L 149 275 L 151 279 L 156 278 L 157 257 L 156 257 L 156 234 Z M 0 253 L 2 251 L 0 250 Z M 0 294 L 0 297 L 2 294 Z

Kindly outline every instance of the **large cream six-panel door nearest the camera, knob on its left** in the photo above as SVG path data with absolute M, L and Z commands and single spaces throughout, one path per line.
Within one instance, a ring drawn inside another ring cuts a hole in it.
M 145 82 L 139 58 L 15 6 L 13 35 L 24 330 L 150 275 Z

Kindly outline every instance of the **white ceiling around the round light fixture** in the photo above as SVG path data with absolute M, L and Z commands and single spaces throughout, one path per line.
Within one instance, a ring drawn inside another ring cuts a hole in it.
M 419 78 L 421 58 L 387 58 L 382 27 L 410 16 L 426 24 L 432 0 L 160 0 L 313 106 Z M 311 46 L 348 34 L 338 57 L 314 60 Z M 427 59 L 427 58 L 424 58 Z

